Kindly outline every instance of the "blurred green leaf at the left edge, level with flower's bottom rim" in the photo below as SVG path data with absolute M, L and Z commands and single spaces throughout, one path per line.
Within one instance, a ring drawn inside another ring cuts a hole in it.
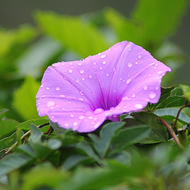
M 18 122 L 12 119 L 5 119 L 0 121 L 0 139 L 16 131 Z

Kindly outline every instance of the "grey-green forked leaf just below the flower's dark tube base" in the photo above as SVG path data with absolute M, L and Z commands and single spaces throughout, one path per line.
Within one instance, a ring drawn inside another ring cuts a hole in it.
M 124 126 L 124 122 L 108 123 L 104 125 L 100 131 L 100 137 L 94 134 L 88 134 L 88 136 L 93 141 L 93 146 L 97 153 L 103 158 L 108 150 L 111 139 L 113 138 L 115 132 Z

